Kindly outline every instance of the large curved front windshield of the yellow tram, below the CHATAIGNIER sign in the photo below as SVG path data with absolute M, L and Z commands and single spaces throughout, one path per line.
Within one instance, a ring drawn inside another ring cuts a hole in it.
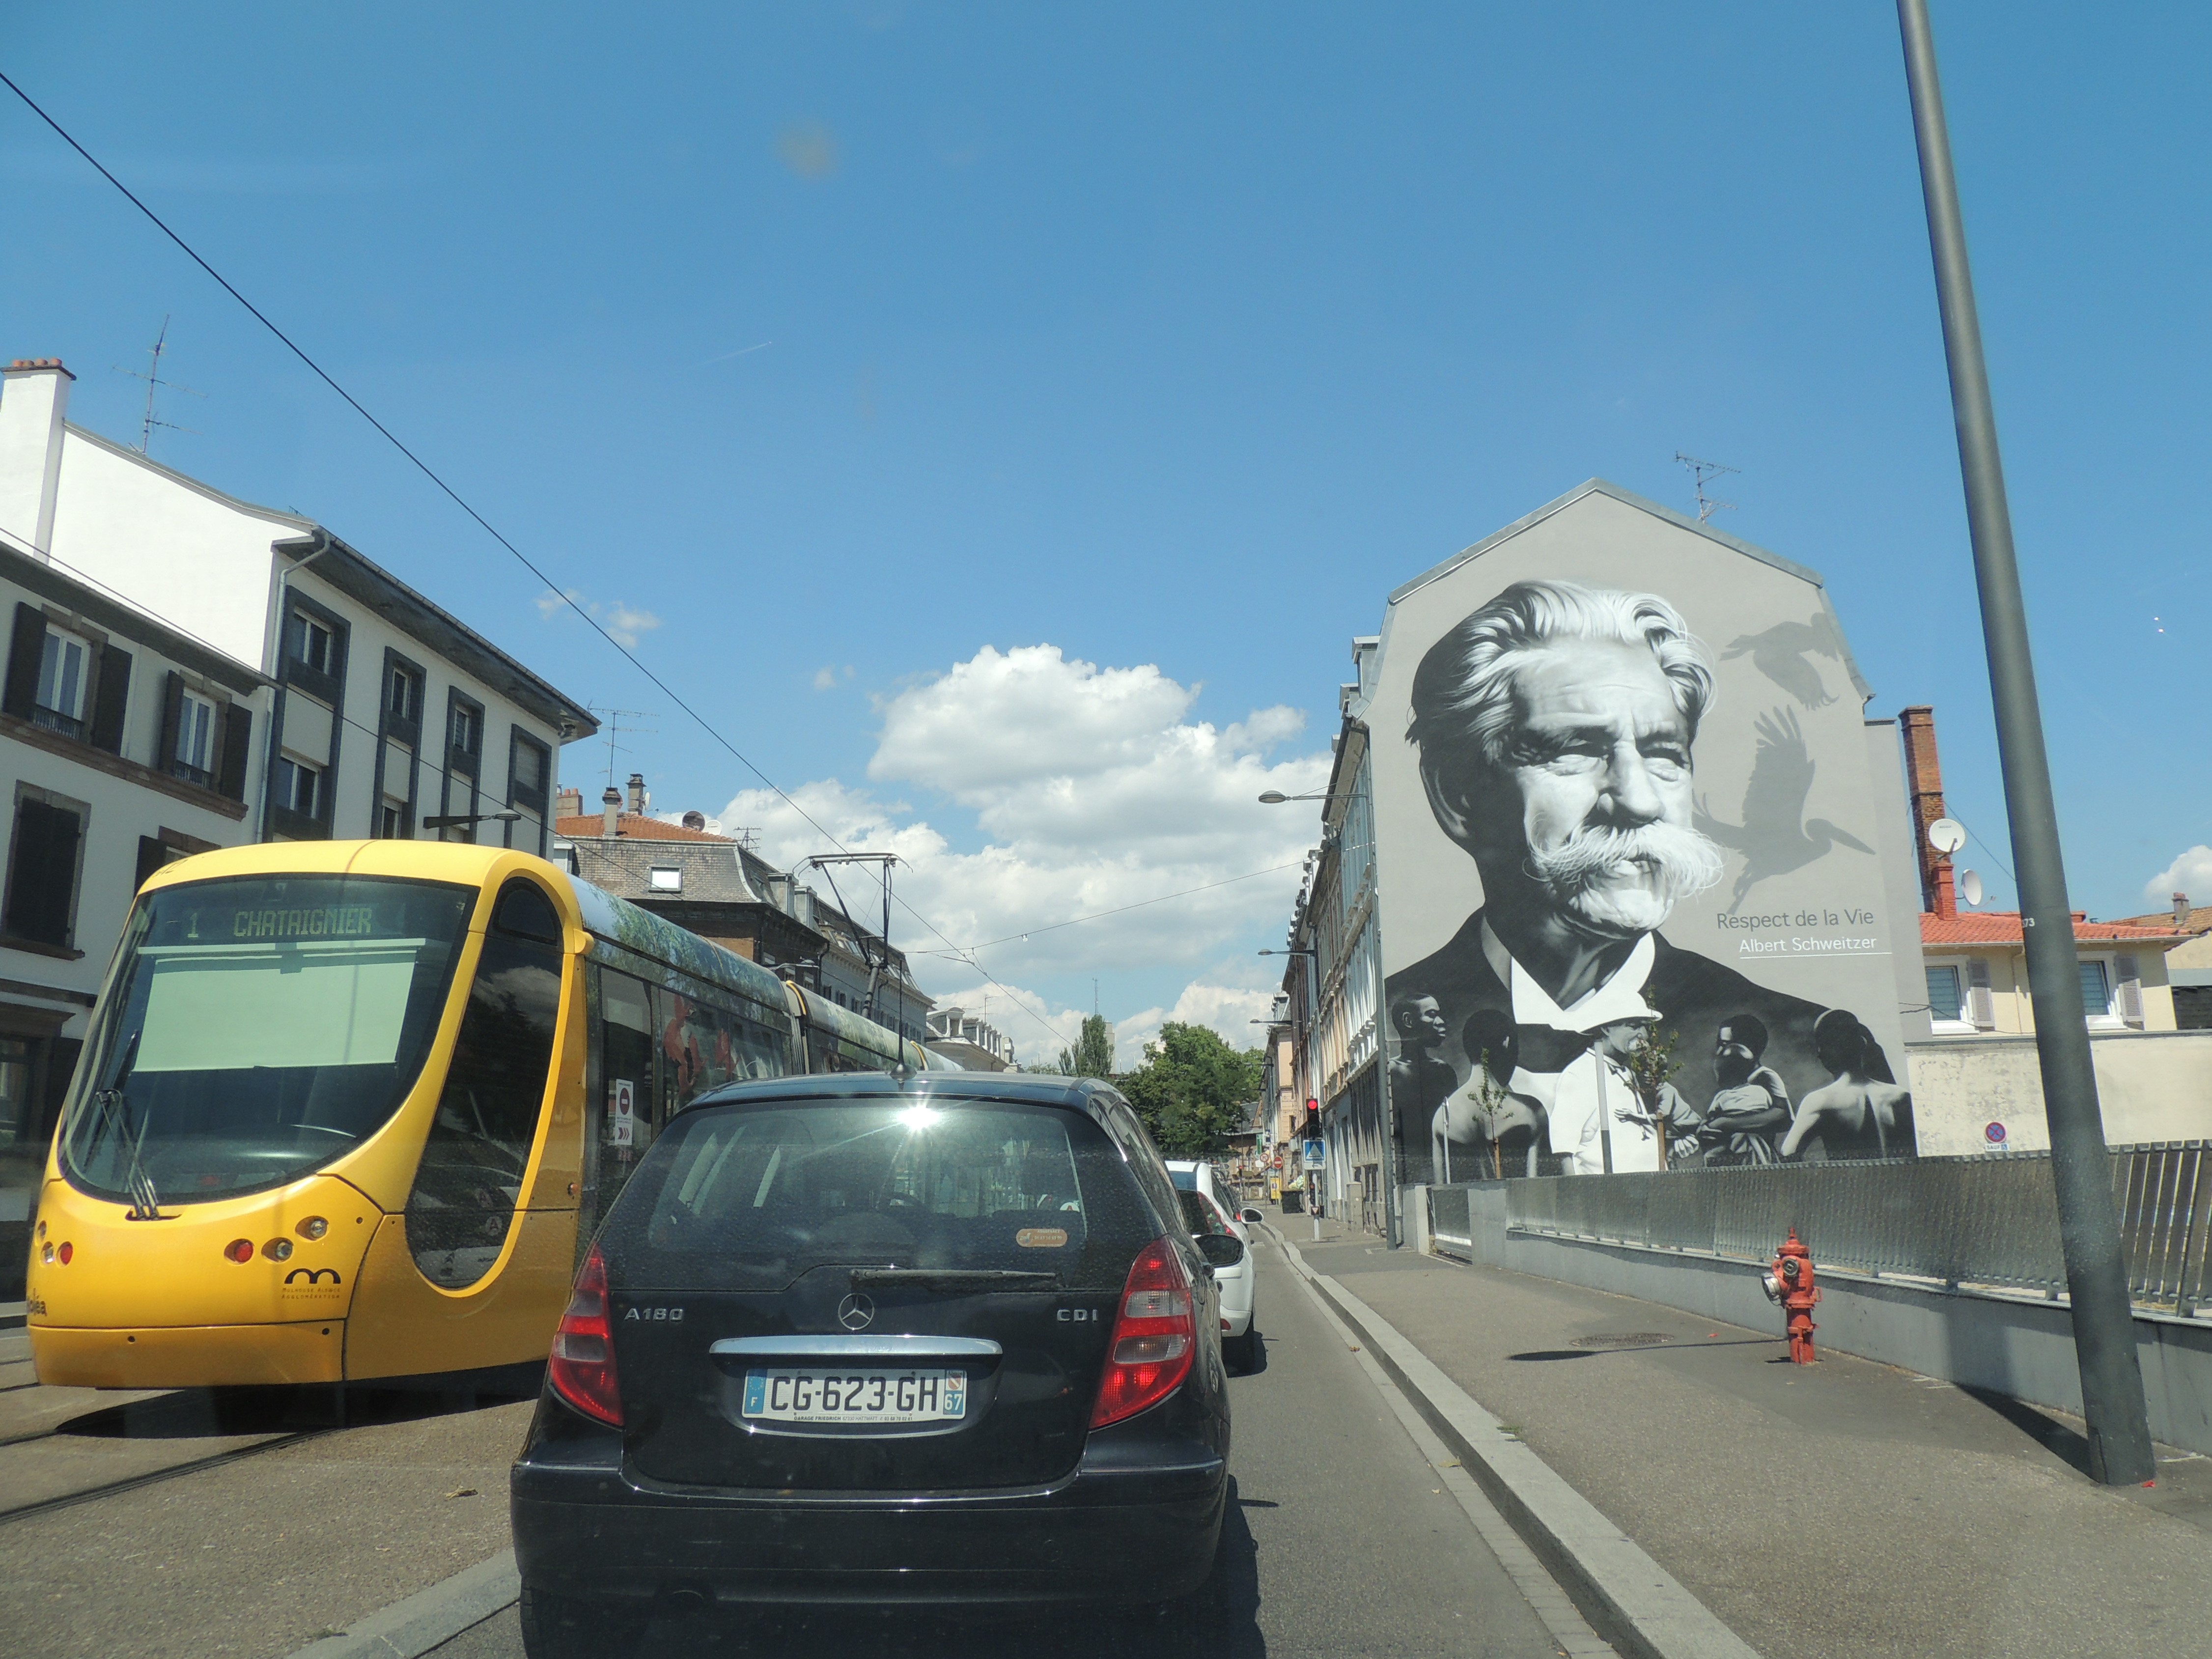
M 148 894 L 69 1104 L 71 1179 L 190 1203 L 349 1152 L 422 1071 L 473 907 L 473 887 L 380 876 Z

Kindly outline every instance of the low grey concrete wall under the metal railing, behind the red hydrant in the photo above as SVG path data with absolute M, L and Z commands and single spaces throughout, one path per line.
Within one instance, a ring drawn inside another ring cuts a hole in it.
M 1409 1223 L 1427 1208 L 1427 1188 L 1407 1188 Z M 1471 1243 L 1433 1241 L 1431 1250 L 1781 1336 L 1781 1310 L 1759 1287 L 1765 1272 L 1759 1263 L 1509 1232 L 1502 1186 L 1469 1188 L 1467 1214 Z M 2028 1405 L 2081 1411 L 2064 1303 L 1832 1270 L 1820 1270 L 1820 1292 L 1816 1343 L 1823 1347 Z M 2212 1321 L 2137 1314 L 2135 1343 L 2150 1433 L 2212 1455 Z

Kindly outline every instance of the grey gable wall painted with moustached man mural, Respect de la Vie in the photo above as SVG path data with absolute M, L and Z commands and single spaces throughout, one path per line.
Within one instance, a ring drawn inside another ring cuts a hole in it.
M 1913 1155 L 1867 697 L 1812 571 L 1606 484 L 1391 595 L 1365 723 L 1402 1181 Z

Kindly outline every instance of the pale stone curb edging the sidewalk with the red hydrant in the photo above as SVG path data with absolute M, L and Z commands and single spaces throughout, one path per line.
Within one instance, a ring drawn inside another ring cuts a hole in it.
M 1515 1533 L 1568 1593 L 1582 1617 L 1632 1659 L 1759 1659 L 1743 1637 L 1681 1586 L 1659 1562 L 1568 1486 L 1522 1440 L 1484 1411 L 1458 1383 L 1389 1321 L 1327 1274 L 1305 1265 L 1305 1254 L 1276 1232 L 1307 1285 L 1367 1343 L 1436 1429 L 1460 1453 Z

